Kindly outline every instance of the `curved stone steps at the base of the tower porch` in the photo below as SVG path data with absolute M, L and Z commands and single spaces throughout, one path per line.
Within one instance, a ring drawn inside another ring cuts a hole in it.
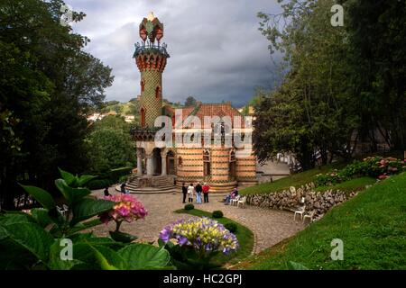
M 180 192 L 174 185 L 174 176 L 135 177 L 126 184 L 130 193 L 175 193 Z M 118 186 L 118 190 L 120 187 Z

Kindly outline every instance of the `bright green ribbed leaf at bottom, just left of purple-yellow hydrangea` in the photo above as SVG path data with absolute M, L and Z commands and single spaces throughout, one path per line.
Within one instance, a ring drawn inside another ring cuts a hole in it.
M 170 261 L 170 254 L 166 249 L 143 243 L 124 247 L 118 254 L 125 259 L 128 269 L 161 268 Z

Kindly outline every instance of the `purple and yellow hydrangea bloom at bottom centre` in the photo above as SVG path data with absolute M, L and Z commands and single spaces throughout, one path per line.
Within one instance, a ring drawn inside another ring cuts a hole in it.
M 175 266 L 198 269 L 216 267 L 210 264 L 212 257 L 229 255 L 239 247 L 233 233 L 207 217 L 182 219 L 166 226 L 161 230 L 160 244 L 169 249 Z

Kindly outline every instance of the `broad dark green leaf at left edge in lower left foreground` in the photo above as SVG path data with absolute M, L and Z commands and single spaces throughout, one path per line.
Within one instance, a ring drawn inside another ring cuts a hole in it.
M 14 223 L 4 225 L 3 228 L 16 243 L 25 247 L 43 262 L 47 261 L 53 238 L 41 226 L 35 223 Z

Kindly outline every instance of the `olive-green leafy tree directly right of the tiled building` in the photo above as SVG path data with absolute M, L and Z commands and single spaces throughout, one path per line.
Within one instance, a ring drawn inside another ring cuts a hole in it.
M 270 49 L 289 65 L 282 85 L 256 105 L 254 148 L 260 160 L 290 152 L 304 169 L 333 155 L 349 156 L 358 120 L 346 83 L 346 31 L 329 24 L 334 1 L 287 1 L 281 15 L 259 14 Z M 279 17 L 279 18 L 278 18 Z M 275 19 L 289 19 L 281 25 Z

